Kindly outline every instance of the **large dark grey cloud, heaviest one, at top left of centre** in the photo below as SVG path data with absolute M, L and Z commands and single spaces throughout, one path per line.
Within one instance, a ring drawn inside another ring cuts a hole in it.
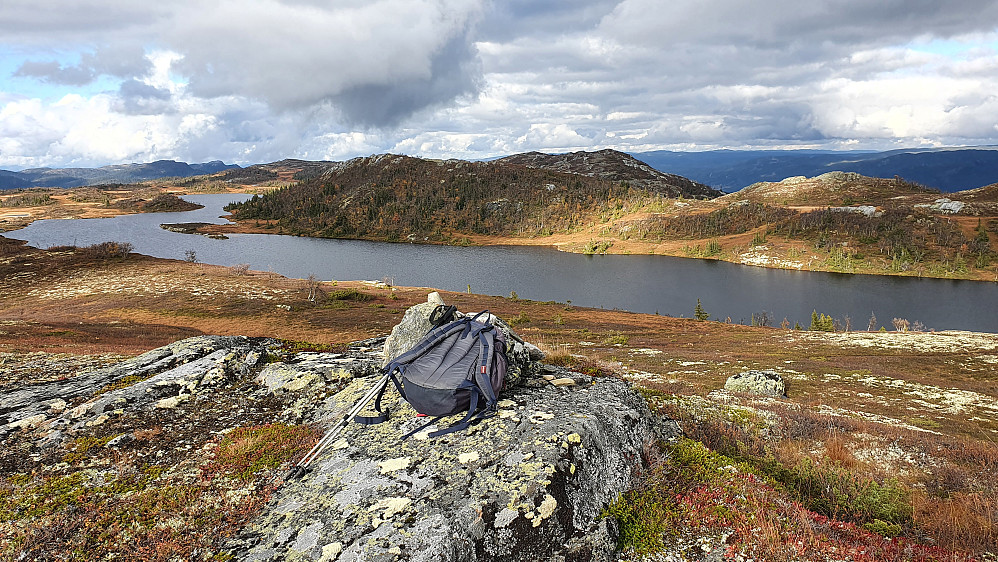
M 380 0 L 245 8 L 220 3 L 169 42 L 203 97 L 240 95 L 279 111 L 337 105 L 361 126 L 393 125 L 474 91 L 471 30 L 481 9 L 460 0 Z M 263 32 L 266 30 L 266 32 Z

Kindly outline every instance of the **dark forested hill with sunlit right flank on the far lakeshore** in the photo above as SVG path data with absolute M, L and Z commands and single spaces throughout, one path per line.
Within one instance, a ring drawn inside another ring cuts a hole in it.
M 502 161 L 385 154 L 335 165 L 227 209 L 238 220 L 267 221 L 293 234 L 448 242 L 468 234 L 570 232 L 662 198 L 626 181 Z

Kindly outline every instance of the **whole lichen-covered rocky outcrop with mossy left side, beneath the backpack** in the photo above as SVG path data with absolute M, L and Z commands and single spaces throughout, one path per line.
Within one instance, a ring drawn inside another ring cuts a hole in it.
M 429 427 L 401 441 L 422 420 L 388 394 L 387 423 L 349 428 L 302 479 L 280 481 L 315 441 L 308 428 L 339 420 L 380 378 L 382 349 L 418 339 L 430 310 L 411 308 L 387 342 L 341 352 L 200 336 L 8 389 L 0 398 L 3 461 L 26 476 L 3 505 L 3 554 L 49 559 L 87 548 L 97 560 L 166 548 L 184 559 L 611 559 L 617 528 L 601 513 L 632 487 L 643 451 L 678 427 L 653 416 L 627 383 L 542 366 L 529 344 L 510 350 L 511 388 L 496 417 L 468 432 L 430 439 Z M 238 429 L 249 420 L 263 425 Z M 278 470 L 257 478 L 267 467 Z M 42 475 L 47 487 L 35 480 Z M 113 516 L 150 501 L 169 504 L 151 528 L 128 530 L 128 517 Z M 89 513 L 74 515 L 78 508 Z M 166 520 L 180 532 L 161 527 Z

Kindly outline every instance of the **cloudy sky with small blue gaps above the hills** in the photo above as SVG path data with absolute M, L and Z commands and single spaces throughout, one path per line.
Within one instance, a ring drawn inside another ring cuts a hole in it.
M 3 0 L 0 167 L 998 144 L 994 0 Z

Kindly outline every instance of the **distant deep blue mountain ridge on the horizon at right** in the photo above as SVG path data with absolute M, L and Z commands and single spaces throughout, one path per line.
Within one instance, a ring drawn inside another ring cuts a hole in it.
M 998 147 L 901 149 L 885 152 L 821 150 L 658 150 L 633 155 L 659 170 L 728 193 L 793 176 L 856 172 L 917 182 L 941 191 L 974 189 L 998 181 Z

